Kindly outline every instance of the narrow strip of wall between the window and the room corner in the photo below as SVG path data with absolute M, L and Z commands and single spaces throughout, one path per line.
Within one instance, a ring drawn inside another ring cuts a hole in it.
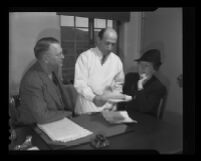
M 131 12 L 130 21 L 120 27 L 120 56 L 125 73 L 136 71 L 136 62 L 141 48 L 141 12 Z

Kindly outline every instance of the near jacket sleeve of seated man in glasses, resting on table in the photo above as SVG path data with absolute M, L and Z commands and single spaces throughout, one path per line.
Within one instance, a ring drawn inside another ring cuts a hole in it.
M 21 99 L 39 124 L 49 123 L 69 116 L 70 113 L 62 110 L 51 110 L 43 97 L 42 81 L 37 75 L 30 75 L 24 82 L 21 90 Z

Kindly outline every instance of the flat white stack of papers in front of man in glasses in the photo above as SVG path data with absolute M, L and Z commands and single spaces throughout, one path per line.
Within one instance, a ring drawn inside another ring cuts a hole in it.
M 59 142 L 69 142 L 93 134 L 93 132 L 81 127 L 68 118 L 47 124 L 37 124 L 37 126 L 53 141 Z

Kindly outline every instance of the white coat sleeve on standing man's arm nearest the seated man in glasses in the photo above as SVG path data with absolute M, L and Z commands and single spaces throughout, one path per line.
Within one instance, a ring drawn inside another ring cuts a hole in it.
M 80 95 L 92 101 L 95 97 L 95 94 L 87 85 L 88 63 L 88 59 L 85 55 L 80 55 L 78 57 L 75 64 L 74 87 Z

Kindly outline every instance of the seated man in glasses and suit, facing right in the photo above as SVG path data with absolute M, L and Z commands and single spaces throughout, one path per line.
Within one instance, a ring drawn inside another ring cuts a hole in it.
M 25 73 L 20 84 L 19 123 L 49 123 L 71 116 L 72 102 L 58 79 L 64 58 L 55 38 L 40 39 L 34 47 L 36 63 Z

